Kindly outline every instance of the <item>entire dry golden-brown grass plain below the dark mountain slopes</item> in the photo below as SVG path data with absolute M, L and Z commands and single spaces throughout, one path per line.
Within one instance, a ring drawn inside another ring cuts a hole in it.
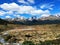
M 0 26 L 0 28 L 3 26 Z M 21 30 L 21 29 L 30 29 L 31 30 Z M 46 24 L 46 25 L 14 25 L 9 24 L 8 35 L 12 36 L 8 39 L 8 42 L 13 41 L 13 39 L 17 39 L 16 42 L 23 41 L 33 41 L 34 43 L 39 43 L 39 41 L 46 40 L 55 40 L 60 38 L 60 24 Z M 3 34 L 5 33 L 3 32 Z M 29 35 L 31 37 L 26 37 L 25 35 Z M 6 36 L 7 38 L 7 36 Z

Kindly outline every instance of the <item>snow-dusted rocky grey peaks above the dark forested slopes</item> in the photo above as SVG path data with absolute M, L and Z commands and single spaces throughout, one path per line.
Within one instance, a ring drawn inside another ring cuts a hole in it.
M 30 17 L 30 18 L 21 18 L 21 17 L 16 17 L 16 18 L 6 18 L 5 20 L 7 21 L 33 21 L 33 20 L 60 20 L 60 15 L 50 15 L 48 17 L 41 17 L 37 18 L 36 16 Z

